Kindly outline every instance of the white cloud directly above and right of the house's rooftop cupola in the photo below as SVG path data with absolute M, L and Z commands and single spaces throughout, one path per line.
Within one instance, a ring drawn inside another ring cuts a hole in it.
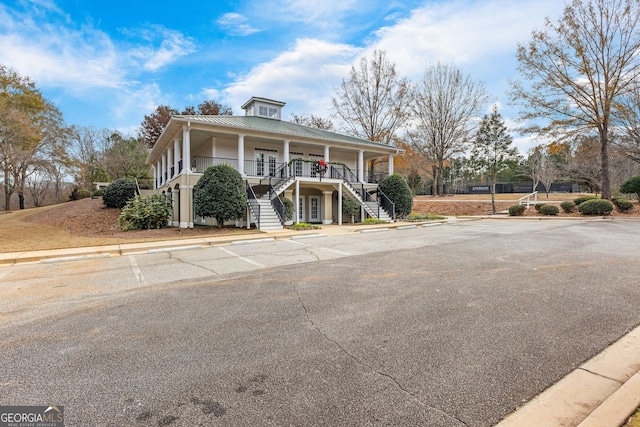
M 287 103 L 291 113 L 327 115 L 333 87 L 340 84 L 359 48 L 316 39 L 297 40 L 295 45 L 270 62 L 254 67 L 223 91 L 224 103 L 236 114 L 252 96 Z

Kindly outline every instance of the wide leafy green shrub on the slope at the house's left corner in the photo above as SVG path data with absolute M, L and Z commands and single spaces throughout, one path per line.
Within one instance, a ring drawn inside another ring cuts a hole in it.
M 118 217 L 122 231 L 164 228 L 171 217 L 171 198 L 162 194 L 136 196 L 129 200 Z

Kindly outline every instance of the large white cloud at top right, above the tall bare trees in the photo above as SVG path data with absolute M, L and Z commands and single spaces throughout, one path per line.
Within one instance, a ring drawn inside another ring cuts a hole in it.
M 371 49 L 386 50 L 403 73 L 419 77 L 429 63 L 465 66 L 515 55 L 517 43 L 562 7 L 558 0 L 429 3 L 378 30 Z

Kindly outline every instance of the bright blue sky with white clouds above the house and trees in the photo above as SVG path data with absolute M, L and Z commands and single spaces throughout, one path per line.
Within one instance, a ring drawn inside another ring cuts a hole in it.
M 0 63 L 31 77 L 68 124 L 135 134 L 157 105 L 251 96 L 328 117 L 352 65 L 384 49 L 409 79 L 452 63 L 482 80 L 507 124 L 517 43 L 560 0 L 16 0 L 0 3 Z M 489 107 L 488 107 L 489 108 Z M 514 135 L 516 136 L 516 135 Z M 533 142 L 516 136 L 525 151 Z

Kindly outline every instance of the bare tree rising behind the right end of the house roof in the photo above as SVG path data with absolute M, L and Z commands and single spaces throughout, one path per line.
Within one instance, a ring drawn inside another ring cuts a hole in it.
M 396 131 L 409 117 L 409 83 L 400 77 L 385 51 L 374 51 L 369 62 L 351 67 L 331 99 L 335 115 L 346 133 L 362 139 L 391 145 Z M 371 172 L 375 161 L 371 162 Z

